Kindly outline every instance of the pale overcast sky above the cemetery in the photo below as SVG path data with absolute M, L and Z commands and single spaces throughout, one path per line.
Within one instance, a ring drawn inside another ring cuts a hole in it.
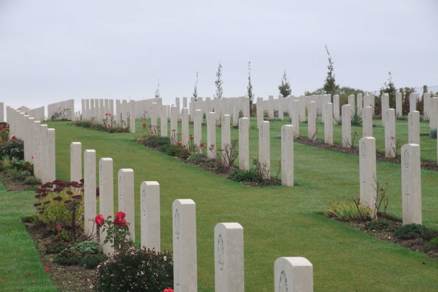
M 84 98 L 292 94 L 336 82 L 366 91 L 438 85 L 438 1 L 0 0 L 0 101 L 36 108 Z M 436 87 L 435 87 L 436 88 Z M 435 89 L 436 90 L 436 89 Z

